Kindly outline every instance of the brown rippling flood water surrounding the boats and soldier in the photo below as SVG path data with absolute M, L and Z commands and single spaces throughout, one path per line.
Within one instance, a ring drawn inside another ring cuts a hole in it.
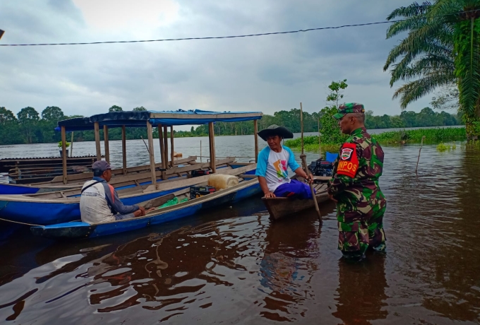
M 199 155 L 199 141 L 175 139 L 174 149 Z M 253 155 L 252 144 L 253 136 L 218 137 L 217 155 Z M 141 140 L 127 147 L 133 164 L 147 162 Z M 75 143 L 73 153 L 94 148 Z M 112 141 L 121 164 L 119 148 Z M 479 324 L 480 150 L 424 146 L 418 177 L 419 146 L 384 150 L 386 254 L 341 259 L 332 203 L 323 204 L 321 224 L 315 211 L 274 223 L 252 198 L 78 242 L 0 223 L 0 323 Z M 58 153 L 52 144 L 0 152 Z

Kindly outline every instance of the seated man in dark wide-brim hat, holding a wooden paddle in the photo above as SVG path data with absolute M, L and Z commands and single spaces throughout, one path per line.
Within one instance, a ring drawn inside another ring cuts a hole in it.
M 258 136 L 267 141 L 268 146 L 258 153 L 256 175 L 267 198 L 295 197 L 299 199 L 312 199 L 310 187 L 303 182 L 288 177 L 287 167 L 290 167 L 296 175 L 313 182 L 295 161 L 294 153 L 286 146 L 282 146 L 284 138 L 293 138 L 289 129 L 275 124 L 258 132 Z

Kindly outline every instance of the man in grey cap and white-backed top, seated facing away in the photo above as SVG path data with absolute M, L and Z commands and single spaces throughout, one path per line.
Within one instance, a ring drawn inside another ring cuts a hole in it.
M 80 197 L 80 214 L 84 223 L 108 223 L 145 215 L 143 206 L 124 206 L 112 185 L 112 169 L 105 160 L 92 165 L 93 179 L 85 182 Z

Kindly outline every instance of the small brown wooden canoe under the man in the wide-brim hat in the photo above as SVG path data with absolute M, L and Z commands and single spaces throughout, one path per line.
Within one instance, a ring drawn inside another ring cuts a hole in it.
M 292 177 L 292 179 L 295 179 L 295 177 Z M 327 201 L 327 184 L 316 183 L 313 185 L 316 190 L 317 202 L 321 203 Z M 265 196 L 262 200 L 270 213 L 270 218 L 272 220 L 278 220 L 289 215 L 296 215 L 296 213 L 299 213 L 300 211 L 315 208 L 313 206 L 313 200 L 289 199 L 284 197 L 265 198 Z

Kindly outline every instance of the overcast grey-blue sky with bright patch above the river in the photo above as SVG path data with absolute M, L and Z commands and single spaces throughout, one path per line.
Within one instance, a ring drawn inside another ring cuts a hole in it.
M 95 42 L 276 32 L 385 20 L 402 0 L 1 0 L 2 44 Z M 124 110 L 262 111 L 347 102 L 400 114 L 383 64 L 388 25 L 227 40 L 0 47 L 0 106 L 59 106 L 90 116 Z M 408 110 L 419 112 L 431 98 Z

